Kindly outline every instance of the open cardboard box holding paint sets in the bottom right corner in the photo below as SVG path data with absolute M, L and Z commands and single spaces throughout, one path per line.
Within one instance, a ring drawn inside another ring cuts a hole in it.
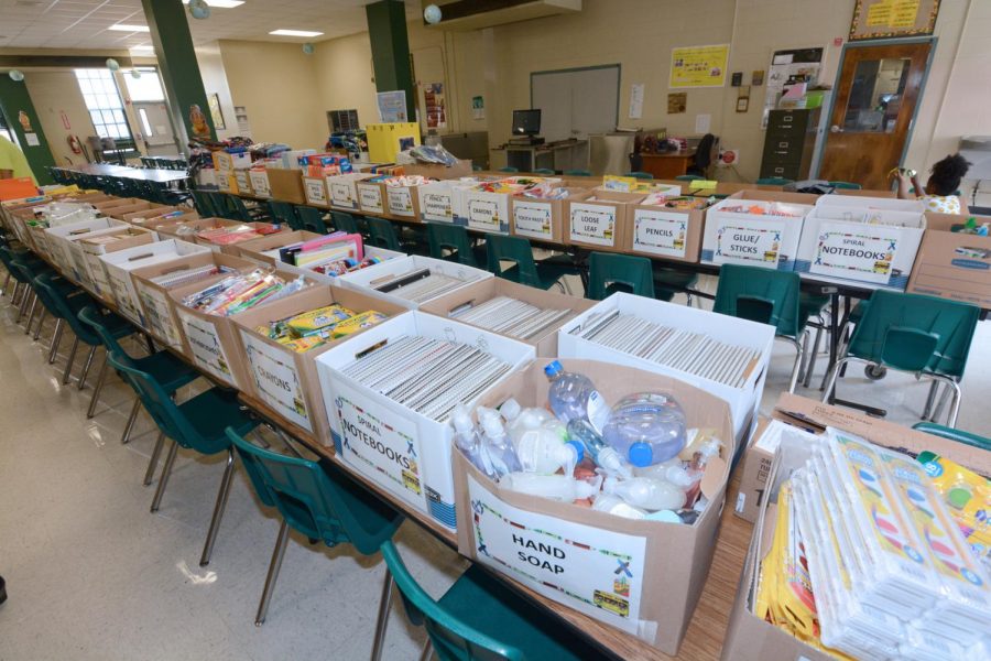
M 884 420 L 838 409 L 795 394 L 784 393 L 775 407 L 775 420 L 793 423 L 799 429 L 825 430 L 826 425 L 867 438 L 871 443 L 896 452 L 918 453 L 932 451 L 948 457 L 981 475 L 991 475 L 991 453 L 976 447 L 916 432 Z M 835 657 L 815 649 L 787 631 L 780 629 L 753 614 L 760 563 L 771 546 L 776 523 L 777 489 L 791 469 L 802 465 L 807 456 L 807 442 L 793 443 L 782 438 L 781 448 L 773 459 L 770 474 L 763 485 L 765 498 L 761 499 L 753 541 L 747 553 L 740 588 L 730 614 L 729 630 L 722 646 L 725 661 L 834 661 Z M 748 456 L 748 463 L 750 458 Z M 741 492 L 744 485 L 741 483 Z M 749 489 L 750 492 L 753 492 Z

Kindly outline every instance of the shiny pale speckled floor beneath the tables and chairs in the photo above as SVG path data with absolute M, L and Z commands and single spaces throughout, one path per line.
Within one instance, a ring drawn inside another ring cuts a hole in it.
M 10 598 L 0 606 L 0 661 L 368 658 L 383 575 L 378 556 L 294 535 L 268 621 L 255 628 L 275 514 L 239 473 L 213 562 L 199 567 L 222 463 L 181 452 L 161 510 L 149 513 L 152 488 L 141 477 L 155 440 L 151 420 L 142 413 L 131 443 L 119 443 L 132 394 L 111 377 L 87 421 L 89 388 L 61 383 L 68 333 L 47 365 L 54 324 L 33 343 L 8 302 L 0 299 L 0 574 Z M 786 384 L 793 355 L 775 347 L 765 411 Z M 982 323 L 963 381 L 961 429 L 991 430 L 982 405 L 989 367 L 991 325 Z M 824 369 L 820 359 L 818 373 Z M 851 370 L 840 392 L 912 423 L 926 386 L 901 375 L 872 383 Z M 403 524 L 398 539 L 435 596 L 465 567 L 415 524 Z M 416 659 L 423 641 L 394 605 L 385 658 Z

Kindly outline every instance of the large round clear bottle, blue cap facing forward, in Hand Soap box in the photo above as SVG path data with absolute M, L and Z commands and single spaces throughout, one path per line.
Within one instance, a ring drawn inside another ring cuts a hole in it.
M 660 464 L 685 447 L 685 412 L 668 394 L 630 394 L 617 402 L 602 436 L 634 466 Z

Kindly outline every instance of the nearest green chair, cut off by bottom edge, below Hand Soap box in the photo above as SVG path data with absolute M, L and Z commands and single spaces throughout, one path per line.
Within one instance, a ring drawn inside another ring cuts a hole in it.
M 382 544 L 405 606 L 406 618 L 423 625 L 427 643 L 442 661 L 525 659 L 570 661 L 599 657 L 546 608 L 513 590 L 479 565 L 471 565 L 439 599 L 434 600 L 413 578 L 391 541 Z

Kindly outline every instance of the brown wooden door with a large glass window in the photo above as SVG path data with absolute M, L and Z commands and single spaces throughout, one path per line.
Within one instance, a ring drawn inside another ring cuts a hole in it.
M 848 47 L 819 177 L 889 188 L 922 93 L 930 44 Z

